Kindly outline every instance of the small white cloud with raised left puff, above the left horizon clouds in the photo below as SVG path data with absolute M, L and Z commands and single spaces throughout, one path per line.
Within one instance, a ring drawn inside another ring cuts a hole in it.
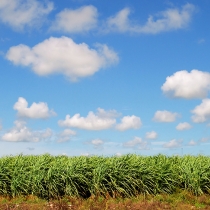
M 28 102 L 22 97 L 18 98 L 13 108 L 18 111 L 19 117 L 31 119 L 45 119 L 56 115 L 54 111 L 49 110 L 47 104 L 44 102 L 32 103 L 32 105 L 28 107 Z

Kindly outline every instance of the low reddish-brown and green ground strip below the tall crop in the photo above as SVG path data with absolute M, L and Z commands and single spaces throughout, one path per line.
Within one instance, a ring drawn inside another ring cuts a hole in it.
M 35 196 L 0 197 L 1 210 L 210 210 L 210 195 L 195 196 L 187 191 L 176 194 L 138 195 L 133 198 L 64 197 L 46 200 Z

